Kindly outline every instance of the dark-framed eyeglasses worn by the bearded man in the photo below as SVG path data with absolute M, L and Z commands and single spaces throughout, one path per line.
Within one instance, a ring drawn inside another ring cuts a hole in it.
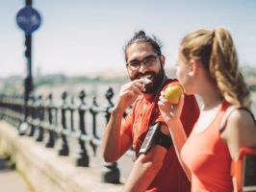
M 141 67 L 141 63 L 145 67 L 150 67 L 156 63 L 158 58 L 158 56 L 150 55 L 145 57 L 143 60 L 131 60 L 130 62 L 127 62 L 127 66 L 129 66 L 132 70 L 139 69 Z

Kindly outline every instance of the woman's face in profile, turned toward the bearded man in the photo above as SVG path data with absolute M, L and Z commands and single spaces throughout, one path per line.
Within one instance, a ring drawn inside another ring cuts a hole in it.
M 192 94 L 192 78 L 190 76 L 190 72 L 192 71 L 192 64 L 185 60 L 185 58 L 179 52 L 176 66 L 176 76 L 180 84 L 183 86 L 184 92 L 186 94 Z

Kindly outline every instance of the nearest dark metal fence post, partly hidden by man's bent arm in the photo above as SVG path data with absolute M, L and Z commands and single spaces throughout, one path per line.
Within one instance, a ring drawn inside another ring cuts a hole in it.
M 109 104 L 106 108 L 106 121 L 107 123 L 110 120 L 111 117 L 111 110 L 114 107 L 113 102 L 111 101 L 114 96 L 113 88 L 109 88 L 105 94 L 106 99 L 108 100 Z M 101 181 L 103 182 L 109 182 L 109 183 L 120 183 L 120 171 L 117 167 L 117 162 L 107 163 L 104 162 L 103 169 L 101 171 Z

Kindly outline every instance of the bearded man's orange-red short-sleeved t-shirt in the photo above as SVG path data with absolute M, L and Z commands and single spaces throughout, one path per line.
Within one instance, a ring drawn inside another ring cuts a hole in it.
M 177 84 L 176 80 L 169 81 L 170 84 Z M 166 86 L 163 89 L 165 89 Z M 122 122 L 121 131 L 132 138 L 133 149 L 137 156 L 148 126 L 158 121 L 165 123 L 157 106 L 158 100 L 159 94 L 154 101 L 147 101 L 143 96 L 140 96 L 134 103 L 130 113 Z M 154 112 L 154 115 L 151 117 L 152 112 Z M 181 121 L 187 134 L 192 131 L 193 124 L 198 115 L 199 108 L 194 96 L 185 96 L 185 105 L 181 115 Z M 190 188 L 190 181 L 187 179 L 187 176 L 179 164 L 174 147 L 171 146 L 166 154 L 162 169 L 152 181 L 147 191 L 188 192 L 190 191 Z

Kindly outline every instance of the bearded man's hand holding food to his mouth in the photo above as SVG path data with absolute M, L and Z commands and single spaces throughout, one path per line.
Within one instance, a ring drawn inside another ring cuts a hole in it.
M 125 108 L 128 108 L 135 102 L 137 97 L 141 95 L 142 91 L 144 90 L 145 88 L 143 79 L 134 80 L 128 84 L 122 85 L 117 102 L 115 104 L 115 108 L 124 111 Z

